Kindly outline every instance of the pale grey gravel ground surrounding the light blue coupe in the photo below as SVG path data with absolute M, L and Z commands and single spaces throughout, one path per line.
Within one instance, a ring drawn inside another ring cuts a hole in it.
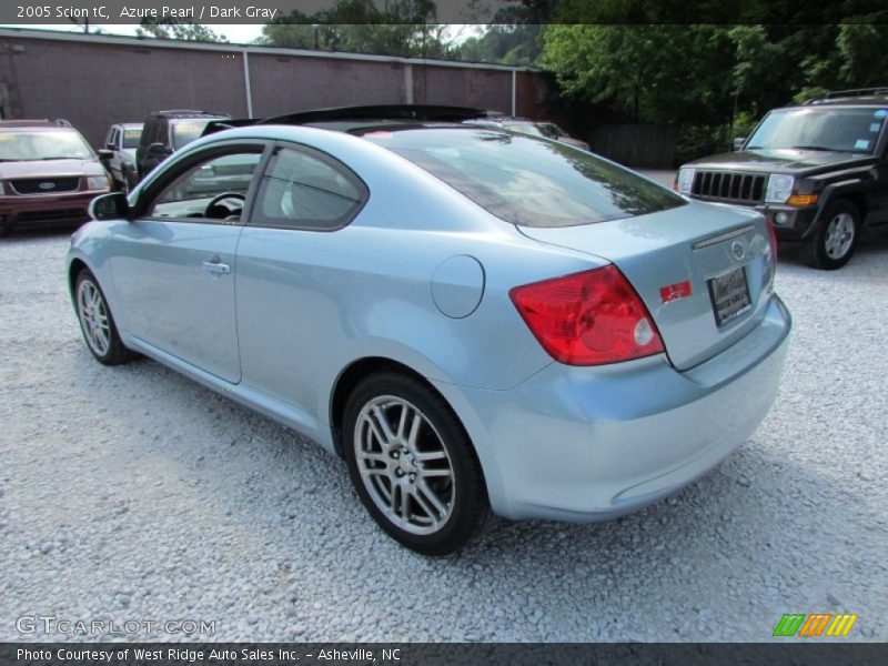
M 713 474 L 612 523 L 500 522 L 446 559 L 386 538 L 311 442 L 158 363 L 95 363 L 67 244 L 0 242 L 0 640 L 22 615 L 215 620 L 220 640 L 763 640 L 815 612 L 888 638 L 888 241 L 837 273 L 781 262 L 783 389 Z

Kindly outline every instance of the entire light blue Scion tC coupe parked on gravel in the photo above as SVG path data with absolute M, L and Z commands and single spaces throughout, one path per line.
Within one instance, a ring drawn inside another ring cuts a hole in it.
M 211 125 L 72 238 L 90 351 L 150 356 L 343 455 L 425 554 L 490 509 L 598 521 L 699 477 L 783 370 L 765 219 L 461 124 L 481 115 Z

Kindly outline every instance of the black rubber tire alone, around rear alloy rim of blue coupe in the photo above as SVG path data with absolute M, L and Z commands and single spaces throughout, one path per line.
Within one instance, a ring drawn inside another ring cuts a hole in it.
M 395 525 L 370 496 L 355 453 L 355 427 L 361 410 L 374 398 L 392 396 L 417 407 L 432 424 L 450 456 L 454 505 L 444 525 L 432 534 L 413 534 Z M 450 405 L 418 380 L 396 372 L 370 375 L 345 405 L 343 454 L 357 496 L 374 521 L 395 541 L 423 555 L 448 555 L 482 532 L 491 515 L 487 488 L 474 446 Z

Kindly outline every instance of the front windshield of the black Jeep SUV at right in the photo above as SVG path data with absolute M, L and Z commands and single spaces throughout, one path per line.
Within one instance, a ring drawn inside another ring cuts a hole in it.
M 755 149 L 871 153 L 888 109 L 785 109 L 771 111 L 746 144 Z

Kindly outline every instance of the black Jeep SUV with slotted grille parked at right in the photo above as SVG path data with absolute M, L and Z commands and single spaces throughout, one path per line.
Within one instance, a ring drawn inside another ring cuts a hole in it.
M 844 90 L 770 111 L 735 152 L 684 164 L 688 196 L 751 206 L 804 261 L 839 269 L 861 232 L 888 224 L 888 88 Z

